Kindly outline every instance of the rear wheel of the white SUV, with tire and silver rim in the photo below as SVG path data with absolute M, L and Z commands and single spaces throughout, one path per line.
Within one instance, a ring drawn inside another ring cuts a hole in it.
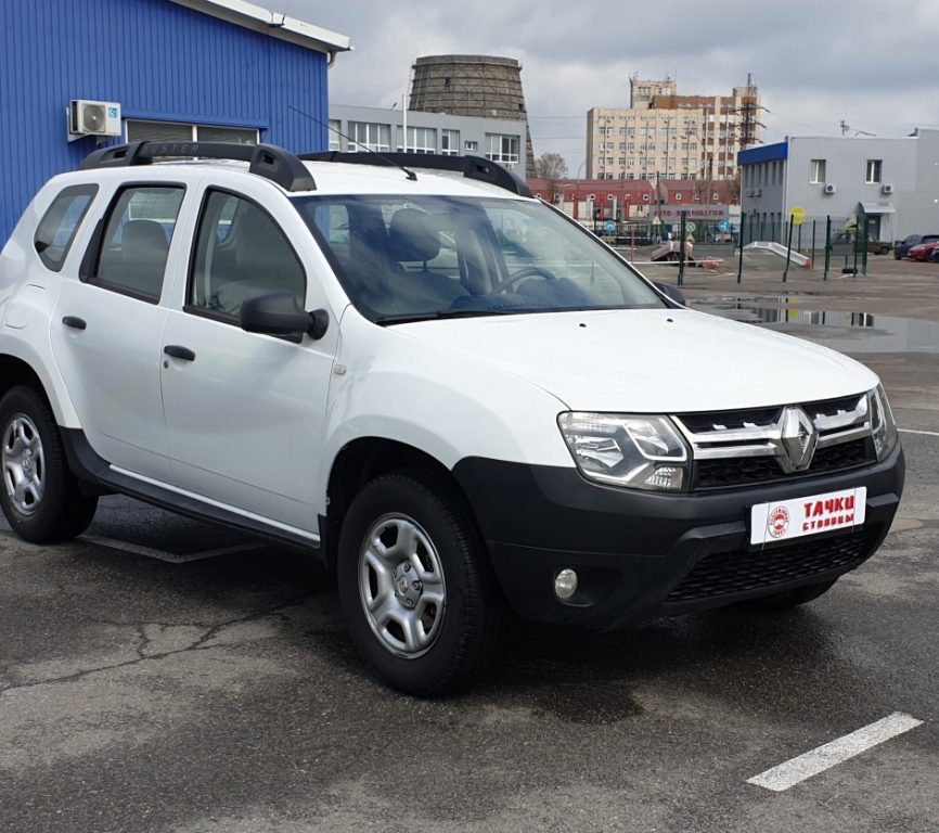
M 28 385 L 17 385 L 0 399 L 0 507 L 21 538 L 67 540 L 91 523 L 98 498 L 80 492 L 52 409 Z

